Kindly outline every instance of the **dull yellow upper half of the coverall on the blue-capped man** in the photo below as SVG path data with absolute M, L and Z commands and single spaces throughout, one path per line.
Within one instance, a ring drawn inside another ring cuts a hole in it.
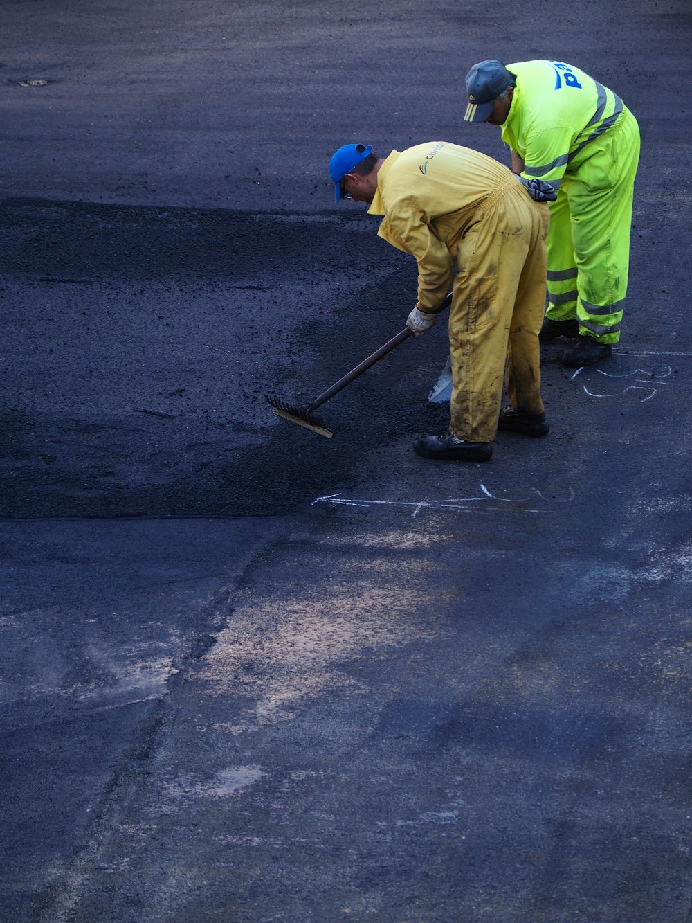
M 368 212 L 385 215 L 380 237 L 416 258 L 422 311 L 440 310 L 452 286 L 459 237 L 507 179 L 512 175 L 501 163 L 447 141 L 392 150 L 380 166 Z

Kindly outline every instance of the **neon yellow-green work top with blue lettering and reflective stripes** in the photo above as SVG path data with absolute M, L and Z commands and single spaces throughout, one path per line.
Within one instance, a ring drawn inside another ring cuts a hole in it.
M 502 140 L 524 161 L 522 176 L 558 189 L 588 159 L 590 142 L 614 125 L 622 100 L 579 67 L 559 61 L 508 64 L 517 86 Z

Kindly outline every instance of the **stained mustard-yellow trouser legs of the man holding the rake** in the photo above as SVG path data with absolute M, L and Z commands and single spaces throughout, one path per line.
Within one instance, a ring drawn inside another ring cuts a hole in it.
M 550 213 L 511 178 L 457 244 L 449 312 L 450 428 L 470 442 L 497 432 L 503 383 L 516 410 L 542 414 L 538 334 Z

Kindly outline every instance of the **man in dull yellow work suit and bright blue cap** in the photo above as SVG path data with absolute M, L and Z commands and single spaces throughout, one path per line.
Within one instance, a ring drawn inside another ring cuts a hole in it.
M 541 437 L 538 333 L 550 216 L 503 164 L 430 141 L 386 159 L 347 144 L 329 163 L 335 200 L 384 215 L 378 234 L 418 263 L 414 336 L 435 324 L 449 290 L 452 398 L 447 434 L 416 439 L 425 458 L 486 462 L 497 429 Z M 508 406 L 502 409 L 507 367 Z

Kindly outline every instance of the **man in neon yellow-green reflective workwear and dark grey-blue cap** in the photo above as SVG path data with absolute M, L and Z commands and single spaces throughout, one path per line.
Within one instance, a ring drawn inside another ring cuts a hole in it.
M 574 338 L 566 366 L 598 362 L 620 338 L 637 120 L 613 90 L 559 61 L 482 61 L 466 91 L 464 119 L 502 126 L 512 171 L 551 203 L 541 340 Z

